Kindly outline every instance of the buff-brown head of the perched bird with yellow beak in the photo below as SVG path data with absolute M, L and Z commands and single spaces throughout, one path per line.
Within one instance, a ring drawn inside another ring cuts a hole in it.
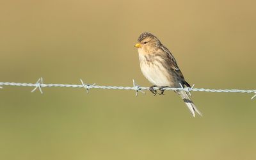
M 151 33 L 144 32 L 138 38 L 137 44 L 134 47 L 137 47 L 139 50 L 142 49 L 145 52 L 150 52 L 154 49 L 159 48 L 161 42 L 158 38 Z

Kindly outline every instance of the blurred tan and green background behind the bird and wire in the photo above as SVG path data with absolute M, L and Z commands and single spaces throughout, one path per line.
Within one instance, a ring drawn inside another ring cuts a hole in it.
M 196 88 L 255 89 L 255 1 L 1 1 L 0 81 L 150 86 L 134 44 L 158 36 Z M 253 94 L 4 86 L 0 159 L 256 159 Z

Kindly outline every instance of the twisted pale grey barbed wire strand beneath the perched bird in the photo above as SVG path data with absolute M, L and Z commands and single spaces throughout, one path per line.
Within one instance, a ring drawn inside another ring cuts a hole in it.
M 81 84 L 44 84 L 43 83 L 43 78 L 40 77 L 40 79 L 38 79 L 38 81 L 36 81 L 36 83 L 10 83 L 10 82 L 0 82 L 0 88 L 3 88 L 2 86 L 30 86 L 30 87 L 35 87 L 33 88 L 33 90 L 31 90 L 31 92 L 35 92 L 36 89 L 38 89 L 40 91 L 40 93 L 43 93 L 42 88 L 44 87 L 67 87 L 67 88 L 84 88 L 86 90 L 86 92 L 88 93 L 90 89 L 95 88 L 95 89 L 107 89 L 107 90 L 134 90 L 136 92 L 136 97 L 138 96 L 138 92 L 144 93 L 143 90 L 149 90 L 149 87 L 143 87 L 143 86 L 139 86 L 134 79 L 133 81 L 133 86 L 99 86 L 94 84 L 85 84 L 83 82 L 82 79 L 80 79 Z M 163 90 L 173 90 L 173 91 L 177 91 L 177 90 L 184 90 L 186 92 L 189 93 L 189 95 L 191 95 L 191 91 L 193 92 L 217 92 L 217 93 L 255 93 L 255 95 L 253 95 L 252 99 L 254 99 L 256 97 L 256 90 L 237 90 L 237 89 L 232 89 L 232 90 L 216 90 L 216 89 L 205 89 L 205 88 L 194 88 L 195 84 L 193 84 L 193 86 L 191 86 L 191 88 L 189 87 L 182 87 L 182 85 L 180 84 L 180 88 L 170 88 L 170 87 L 166 87 L 163 88 Z M 154 90 L 159 89 L 159 87 L 154 87 Z

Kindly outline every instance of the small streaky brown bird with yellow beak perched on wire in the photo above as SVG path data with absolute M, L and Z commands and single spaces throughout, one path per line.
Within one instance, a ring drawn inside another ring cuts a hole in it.
M 150 91 L 156 95 L 157 91 L 154 87 L 159 86 L 161 93 L 164 93 L 165 87 L 180 88 L 190 87 L 185 81 L 175 58 L 172 53 L 161 44 L 160 40 L 151 33 L 142 33 L 135 45 L 138 48 L 140 68 L 143 75 L 154 86 L 150 86 Z M 189 111 L 195 117 L 195 112 L 202 116 L 195 104 L 189 98 L 184 90 L 176 91 L 188 106 Z

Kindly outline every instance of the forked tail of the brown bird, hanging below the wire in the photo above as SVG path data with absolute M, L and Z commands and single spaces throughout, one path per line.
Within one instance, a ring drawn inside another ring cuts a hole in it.
M 186 105 L 188 106 L 189 111 L 191 114 L 195 117 L 195 112 L 198 113 L 198 115 L 202 116 L 202 113 L 196 108 L 195 104 L 192 102 L 192 100 L 189 98 L 189 95 L 184 90 L 179 90 L 177 93 L 180 95 L 180 97 L 184 100 Z

